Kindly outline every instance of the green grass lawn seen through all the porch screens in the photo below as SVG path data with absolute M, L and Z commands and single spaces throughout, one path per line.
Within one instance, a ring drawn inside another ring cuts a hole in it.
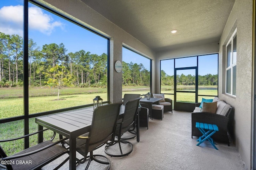
M 179 89 L 190 89 L 192 87 L 180 86 Z M 216 88 L 204 86 L 199 88 L 199 94 L 217 95 L 216 90 L 208 90 L 208 88 Z M 129 94 L 147 94 L 150 91 L 146 86 L 124 86 L 122 96 L 125 93 Z M 58 89 L 54 88 L 29 88 L 29 113 L 39 113 L 43 111 L 50 111 L 55 109 L 62 109 L 66 107 L 81 106 L 85 104 L 92 104 L 95 96 L 100 96 L 104 101 L 107 101 L 106 88 L 64 88 L 60 91 L 60 100 L 57 99 Z M 173 94 L 173 88 L 170 86 L 162 87 L 161 93 Z M 23 115 L 23 88 L 1 88 L 0 89 L 0 119 Z M 166 98 L 173 99 L 173 95 L 165 95 Z M 181 101 L 191 102 L 194 100 L 193 96 L 180 95 Z M 199 97 L 198 101 L 201 101 Z M 207 97 L 205 97 L 207 98 Z M 209 98 L 209 97 L 208 97 Z M 212 97 L 210 97 L 212 98 Z M 35 118 L 29 120 L 30 133 L 37 131 L 38 125 L 35 123 Z M 24 133 L 24 121 L 14 121 L 0 124 L 0 140 L 10 139 L 22 136 Z M 44 140 L 48 140 L 52 136 L 51 131 L 44 132 Z M 58 140 L 56 135 L 55 140 Z M 30 137 L 30 146 L 37 143 L 37 135 Z M 6 150 L 7 154 L 13 154 L 23 149 L 23 139 L 15 142 L 0 143 Z

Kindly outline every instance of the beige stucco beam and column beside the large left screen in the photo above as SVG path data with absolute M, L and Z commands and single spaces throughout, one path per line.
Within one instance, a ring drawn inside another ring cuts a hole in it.
M 114 63 L 122 61 L 122 45 L 136 49 L 149 59 L 154 59 L 154 52 L 140 41 L 117 27 L 102 15 L 92 10 L 80 0 L 37 0 L 86 27 L 110 38 L 110 99 L 111 103 L 122 101 L 122 73 L 114 70 Z

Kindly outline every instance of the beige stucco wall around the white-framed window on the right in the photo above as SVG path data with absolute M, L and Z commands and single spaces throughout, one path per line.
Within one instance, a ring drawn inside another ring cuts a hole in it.
M 225 94 L 225 45 L 237 28 L 236 97 Z M 250 168 L 252 116 L 252 0 L 236 0 L 220 39 L 219 97 L 235 109 L 236 148 Z

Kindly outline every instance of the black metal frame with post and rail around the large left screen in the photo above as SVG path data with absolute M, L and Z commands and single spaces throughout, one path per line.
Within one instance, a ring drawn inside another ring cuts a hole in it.
M 96 31 L 93 31 L 89 28 L 87 28 L 86 26 L 76 22 L 76 21 L 73 21 L 72 19 L 62 15 L 62 14 L 59 14 L 58 12 L 34 1 L 34 0 L 24 0 L 24 18 L 23 18 L 23 29 L 24 29 L 24 32 L 23 32 L 23 53 L 24 53 L 24 58 L 23 58 L 23 71 L 24 73 L 28 73 L 28 3 L 32 3 L 32 4 L 35 4 L 36 6 L 39 6 L 40 8 L 43 8 L 49 12 L 52 12 L 53 14 L 57 15 L 57 16 L 60 16 L 80 27 L 83 27 L 84 29 L 88 30 L 88 31 L 91 31 L 93 33 L 96 33 L 97 35 L 100 35 L 101 37 L 104 37 L 103 35 L 97 33 Z M 107 42 L 107 45 L 108 45 L 108 61 L 107 61 L 107 71 L 108 71 L 108 80 L 107 80 L 107 83 L 108 83 L 108 101 L 106 102 L 103 102 L 103 104 L 106 104 L 106 103 L 109 103 L 109 39 L 107 37 L 104 37 L 105 39 L 108 40 Z M 63 109 L 57 109 L 57 110 L 51 110 L 51 111 L 44 111 L 44 112 L 40 112 L 40 113 L 33 113 L 33 114 L 29 114 L 29 106 L 28 106 L 28 98 L 29 98 L 29 92 L 28 92 L 28 74 L 23 74 L 23 105 L 24 105 L 24 115 L 22 116 L 16 116 L 16 117 L 10 117 L 10 118 L 6 118 L 6 119 L 0 119 L 0 123 L 7 123 L 7 122 L 12 122 L 12 121 L 18 121 L 18 120 L 24 120 L 24 135 L 28 135 L 29 134 L 29 119 L 30 118 L 34 118 L 34 117 L 38 117 L 38 116 L 43 116 L 43 115 L 49 115 L 49 114 L 52 114 L 52 113 L 58 113 L 58 112 L 61 112 L 61 111 L 68 111 L 68 110 L 72 110 L 72 109 L 79 109 L 79 108 L 82 108 L 82 107 L 89 107 L 89 106 L 93 106 L 93 104 L 87 104 L 87 105 L 82 105 L 82 106 L 75 106 L 75 107 L 68 107 L 68 108 L 63 108 Z M 42 133 L 39 133 L 38 134 L 38 139 L 42 139 L 43 138 L 43 134 Z M 25 137 L 24 138 L 24 149 L 28 148 L 29 147 L 29 138 L 28 137 Z

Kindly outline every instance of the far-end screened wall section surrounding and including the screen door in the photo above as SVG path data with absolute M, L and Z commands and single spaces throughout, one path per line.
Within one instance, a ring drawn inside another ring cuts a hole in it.
M 198 75 L 196 75 L 196 68 L 198 68 Z M 196 98 L 200 102 L 202 98 L 218 96 L 218 54 L 161 60 L 161 93 L 172 99 L 175 96 L 175 69 L 177 102 L 194 103 Z M 196 82 L 196 76 L 198 76 L 198 82 Z M 195 96 L 196 84 L 198 84 L 198 90 Z

